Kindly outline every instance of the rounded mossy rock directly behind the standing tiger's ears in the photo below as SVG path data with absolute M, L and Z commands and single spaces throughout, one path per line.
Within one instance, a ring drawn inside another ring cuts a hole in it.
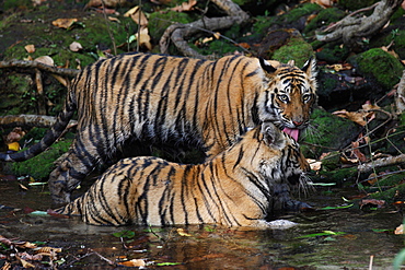
M 291 38 L 287 45 L 275 51 L 273 59 L 280 62 L 294 60 L 297 67 L 302 67 L 311 56 L 313 56 L 313 49 L 310 44 L 302 38 Z

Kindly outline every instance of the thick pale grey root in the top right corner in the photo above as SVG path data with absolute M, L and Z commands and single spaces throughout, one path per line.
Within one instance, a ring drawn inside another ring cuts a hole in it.
M 345 45 L 356 47 L 361 37 L 371 36 L 383 28 L 402 2 L 402 0 L 382 0 L 369 8 L 375 7 L 370 16 L 355 17 L 354 14 L 366 9 L 356 11 L 326 30 L 326 32 L 331 30 L 334 32 L 326 35 L 317 34 L 316 38 L 325 43 L 342 39 Z

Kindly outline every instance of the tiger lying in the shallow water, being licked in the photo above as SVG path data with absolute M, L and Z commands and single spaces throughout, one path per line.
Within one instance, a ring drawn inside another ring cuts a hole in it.
M 217 223 L 266 226 L 274 186 L 305 185 L 298 143 L 265 122 L 199 165 L 158 157 L 119 161 L 82 196 L 56 212 L 94 225 Z

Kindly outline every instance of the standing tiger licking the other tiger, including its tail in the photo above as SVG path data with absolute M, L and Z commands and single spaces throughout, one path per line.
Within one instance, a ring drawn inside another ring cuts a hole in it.
M 115 157 L 130 141 L 183 143 L 213 156 L 262 121 L 298 138 L 316 99 L 315 60 L 302 69 L 277 61 L 227 56 L 217 61 L 150 54 L 125 54 L 88 66 L 71 82 L 63 110 L 42 141 L 2 161 L 25 161 L 61 134 L 78 110 L 77 136 L 49 176 L 55 203 L 97 164 Z

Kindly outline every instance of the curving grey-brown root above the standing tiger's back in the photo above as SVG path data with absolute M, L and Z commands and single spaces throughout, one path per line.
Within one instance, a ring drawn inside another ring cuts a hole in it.
M 224 17 L 202 17 L 196 22 L 188 24 L 172 24 L 166 28 L 160 39 L 160 51 L 162 54 L 169 52 L 170 42 L 177 47 L 177 49 L 187 57 L 205 59 L 202 56 L 192 49 L 186 39 L 196 35 L 201 31 L 218 31 L 229 28 L 234 24 L 242 24 L 248 20 L 248 15 L 232 0 L 212 0 L 220 9 L 227 12 L 229 16 Z

